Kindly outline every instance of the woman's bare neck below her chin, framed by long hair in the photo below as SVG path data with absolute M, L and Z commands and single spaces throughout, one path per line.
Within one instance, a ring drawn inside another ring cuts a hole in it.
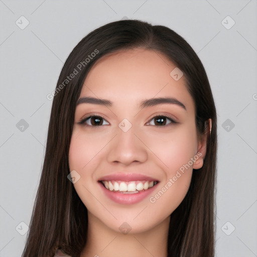
M 170 217 L 140 233 L 114 231 L 88 213 L 87 243 L 80 257 L 167 257 Z

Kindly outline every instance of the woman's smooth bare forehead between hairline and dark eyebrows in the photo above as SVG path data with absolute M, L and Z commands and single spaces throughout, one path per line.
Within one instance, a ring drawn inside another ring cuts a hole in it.
M 139 103 L 153 97 L 175 97 L 194 111 L 194 102 L 182 76 L 170 75 L 176 68 L 165 55 L 146 49 L 132 49 L 103 56 L 89 71 L 81 95 Z

